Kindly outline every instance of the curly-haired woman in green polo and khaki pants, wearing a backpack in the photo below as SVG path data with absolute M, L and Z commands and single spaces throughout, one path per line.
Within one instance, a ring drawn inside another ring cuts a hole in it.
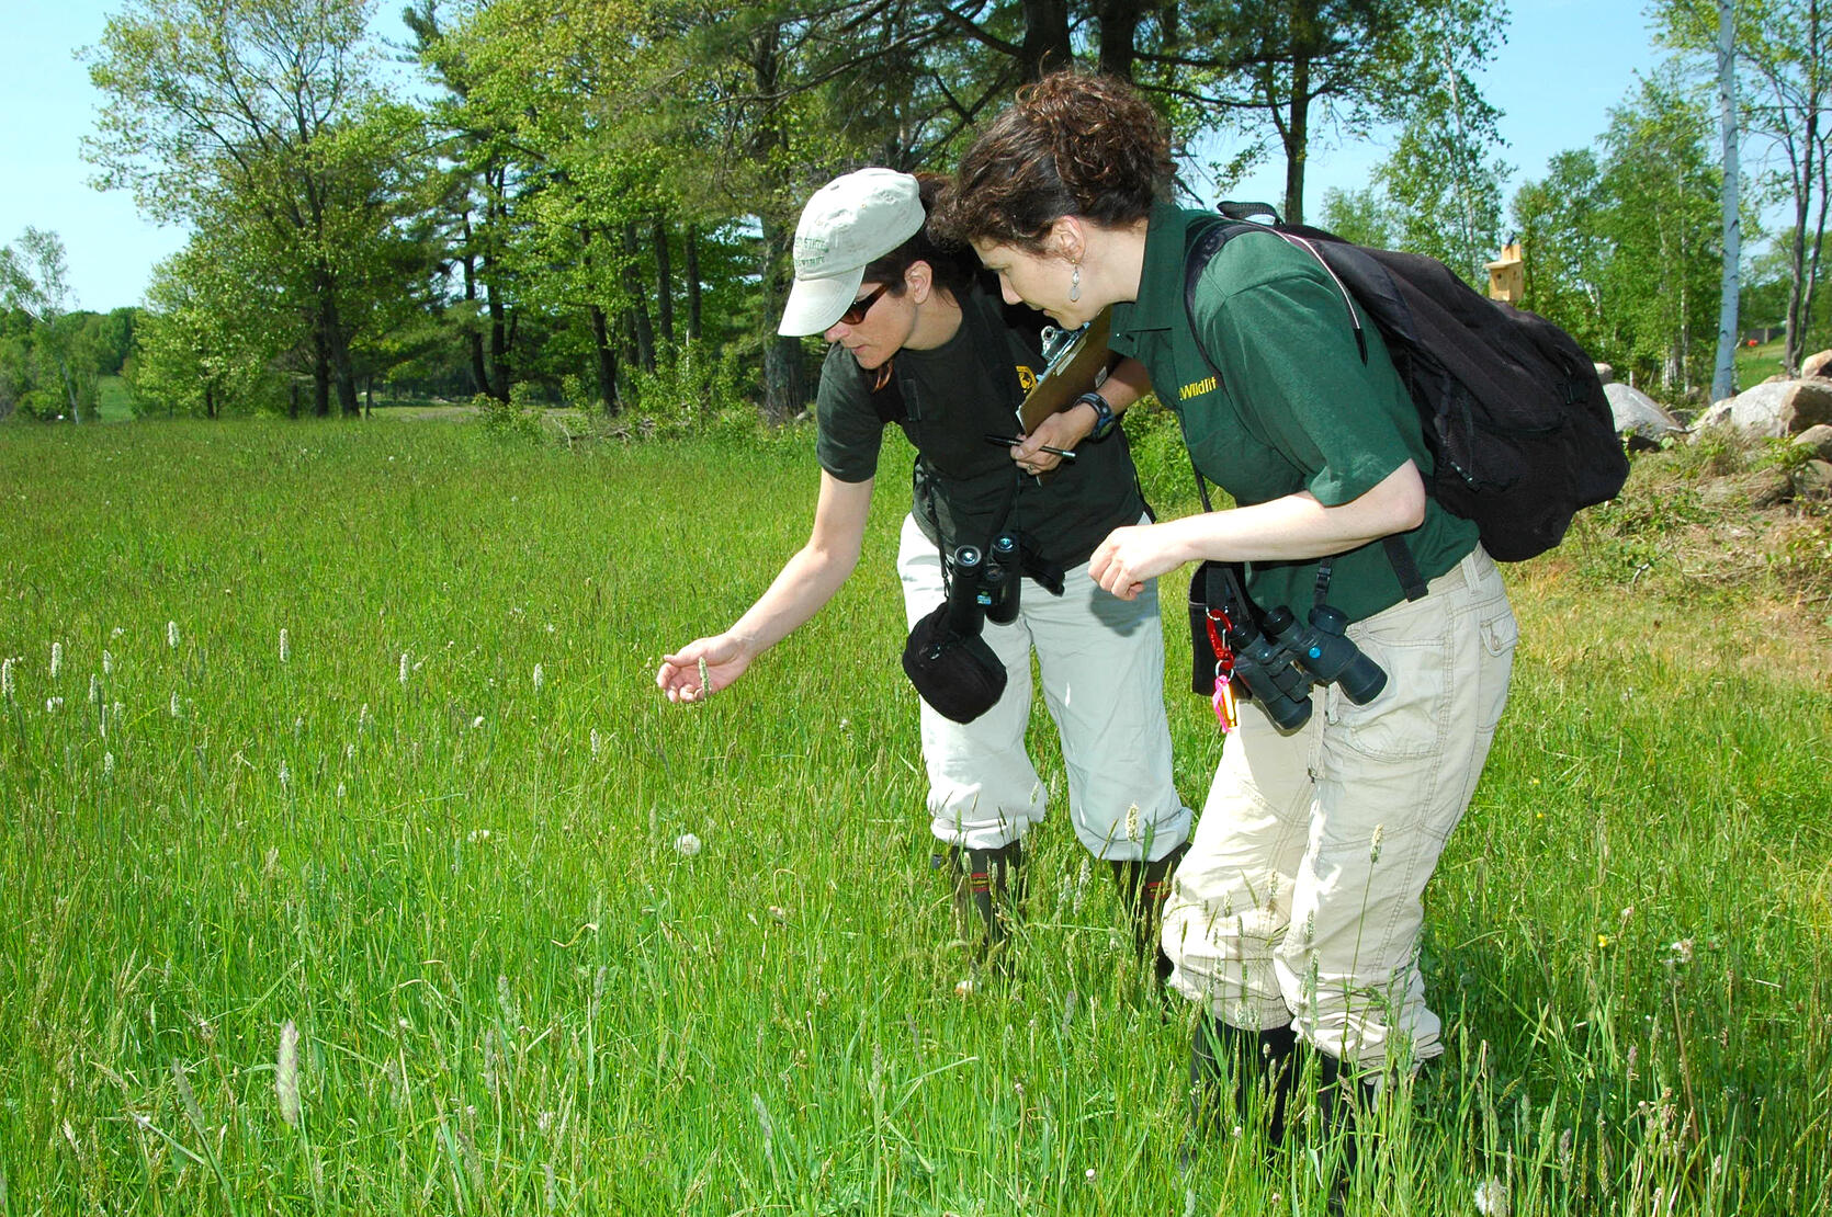
M 1172 986 L 1205 1012 L 1198 1104 L 1242 1078 L 1235 1100 L 1277 1142 L 1293 1052 L 1317 1056 L 1319 1102 L 1343 1124 L 1385 1072 L 1442 1052 L 1420 899 L 1482 772 L 1517 631 L 1475 525 L 1425 494 L 1431 454 L 1372 326 L 1363 355 L 1330 273 L 1271 231 L 1226 242 L 1185 302 L 1189 249 L 1216 216 L 1172 207 L 1169 181 L 1158 113 L 1119 81 L 1061 71 L 973 145 L 938 227 L 1006 298 L 1064 326 L 1112 307 L 1114 351 L 1145 364 L 1193 463 L 1233 496 L 1116 529 L 1088 567 L 1103 589 L 1240 564 L 1259 609 L 1303 620 L 1326 600 L 1385 670 L 1367 705 L 1312 688 L 1292 730 L 1240 706 L 1165 906 Z

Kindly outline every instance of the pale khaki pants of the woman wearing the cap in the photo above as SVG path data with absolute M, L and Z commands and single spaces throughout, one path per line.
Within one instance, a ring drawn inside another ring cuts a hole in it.
M 912 516 L 903 522 L 898 573 L 914 624 L 943 591 L 942 555 Z M 1042 820 L 1046 791 L 1024 750 L 1031 650 L 1063 738 L 1068 813 L 1083 847 L 1110 862 L 1156 862 L 1189 840 L 1191 811 L 1171 781 L 1156 584 L 1121 600 L 1088 578 L 1086 564 L 1064 573 L 1059 597 L 1026 578 L 1017 620 L 986 622 L 980 637 L 1006 666 L 998 703 L 954 723 L 918 699 L 936 840 L 998 849 Z

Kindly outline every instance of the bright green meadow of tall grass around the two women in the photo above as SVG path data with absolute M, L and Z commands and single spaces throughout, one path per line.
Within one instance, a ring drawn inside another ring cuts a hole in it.
M 1189 1014 L 1061 809 L 1013 974 L 951 942 L 905 458 L 815 622 L 656 694 L 804 538 L 810 447 L 0 434 L 0 1217 L 1321 1213 L 1310 1136 L 1180 1169 Z M 1669 595 L 1614 544 L 1511 571 L 1513 701 L 1427 897 L 1449 1054 L 1350 1212 L 1832 1186 L 1825 609 Z

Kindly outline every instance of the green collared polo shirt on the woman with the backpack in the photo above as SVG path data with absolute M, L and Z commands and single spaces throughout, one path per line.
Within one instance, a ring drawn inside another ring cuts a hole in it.
M 1196 468 L 1242 505 L 1308 490 L 1336 507 L 1407 459 L 1429 476 L 1418 408 L 1379 331 L 1361 317 L 1363 362 L 1350 304 L 1308 251 L 1273 232 L 1222 245 L 1196 282 L 1196 344 L 1183 267 L 1205 220 L 1213 216 L 1152 209 L 1140 295 L 1114 306 L 1112 333 L 1112 348 L 1138 357 L 1158 399 L 1176 412 Z M 1475 547 L 1477 525 L 1427 500 L 1425 522 L 1403 540 L 1429 580 Z M 1268 609 L 1284 604 L 1303 620 L 1315 600 L 1317 565 L 1315 558 L 1249 562 L 1248 595 Z M 1381 542 L 1332 558 L 1326 600 L 1348 620 L 1403 598 Z

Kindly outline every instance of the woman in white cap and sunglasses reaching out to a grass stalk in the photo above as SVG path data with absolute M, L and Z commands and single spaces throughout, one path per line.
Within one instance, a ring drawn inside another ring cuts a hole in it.
M 995 677 L 982 705 L 962 714 L 943 699 L 943 714 L 927 690 L 921 703 L 931 827 L 956 875 L 956 906 L 978 911 L 987 944 L 1004 941 L 1022 840 L 1046 803 L 1024 750 L 1035 650 L 1075 835 L 1114 864 L 1145 952 L 1191 825 L 1171 781 L 1158 597 L 1147 586 L 1119 598 L 1086 576 L 1088 556 L 1114 527 L 1147 518 L 1125 434 L 1108 423 L 1140 393 L 1143 370 L 1123 364 L 1103 384 L 1105 399 L 1090 393 L 1059 415 L 1092 414 L 1099 432 L 1070 461 L 1024 452 L 1013 465 L 1015 450 L 989 445 L 987 436 L 1011 436 L 1013 410 L 1042 361 L 978 287 L 973 254 L 931 242 L 927 205 L 938 188 L 940 179 L 865 168 L 830 181 L 802 210 L 779 329 L 832 344 L 815 408 L 813 533 L 729 630 L 667 655 L 656 684 L 671 701 L 707 697 L 834 597 L 859 558 L 883 428 L 898 423 L 918 450 L 898 555 L 911 626 L 938 611 L 951 580 L 965 578 L 953 571 L 958 547 L 989 553 L 1013 536 L 1024 569 L 1013 620 L 993 611 L 980 628 Z M 1063 430 L 1079 437 L 1086 419 Z M 1031 476 L 1052 468 L 1046 481 Z

